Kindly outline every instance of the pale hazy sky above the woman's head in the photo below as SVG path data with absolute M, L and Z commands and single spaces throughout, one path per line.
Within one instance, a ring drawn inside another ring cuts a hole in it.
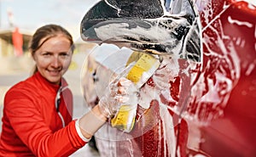
M 0 29 L 9 26 L 8 12 L 14 25 L 34 32 L 38 26 L 55 23 L 79 38 L 84 14 L 99 0 L 0 0 Z M 207 0 L 206 0 L 207 1 Z M 256 5 L 256 0 L 245 0 Z

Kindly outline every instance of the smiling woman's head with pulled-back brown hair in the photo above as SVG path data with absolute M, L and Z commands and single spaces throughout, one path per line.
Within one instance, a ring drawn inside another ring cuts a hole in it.
M 67 71 L 73 54 L 72 36 L 67 31 L 43 30 L 35 33 L 32 40 L 32 57 L 37 66 L 35 72 L 39 71 L 48 81 L 59 84 L 61 76 Z M 49 34 L 38 41 L 42 34 Z M 65 32 L 65 33 L 63 33 Z M 38 52 L 38 53 L 36 53 Z

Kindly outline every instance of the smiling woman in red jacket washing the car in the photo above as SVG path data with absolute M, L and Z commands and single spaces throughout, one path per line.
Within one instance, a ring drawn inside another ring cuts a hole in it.
M 68 156 L 113 116 L 133 84 L 125 78 L 113 81 L 95 108 L 72 120 L 73 95 L 62 77 L 73 56 L 72 36 L 60 25 L 44 25 L 30 48 L 36 70 L 5 95 L 0 156 Z

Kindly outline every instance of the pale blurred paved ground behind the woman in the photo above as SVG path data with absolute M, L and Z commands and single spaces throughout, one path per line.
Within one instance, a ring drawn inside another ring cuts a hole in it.
M 86 59 L 86 53 L 78 53 L 73 55 L 72 69 L 65 75 L 69 87 L 73 91 L 74 97 L 74 118 L 79 118 L 87 112 L 86 104 L 84 101 L 82 88 L 81 88 L 81 71 Z M 3 97 L 9 87 L 13 86 L 16 82 L 24 80 L 27 76 L 30 76 L 32 60 L 24 58 L 1 58 L 0 59 L 0 117 L 3 115 Z M 2 121 L 0 121 L 0 131 L 2 131 Z M 85 145 L 84 148 L 79 149 L 71 157 L 99 157 L 100 155 Z

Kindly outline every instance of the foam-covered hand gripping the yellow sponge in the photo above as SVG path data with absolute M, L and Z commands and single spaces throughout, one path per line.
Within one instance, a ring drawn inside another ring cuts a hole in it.
M 138 90 L 135 84 L 125 77 L 120 77 L 109 84 L 105 95 L 100 99 L 99 107 L 103 115 L 111 118 L 119 111 L 121 105 L 137 105 L 137 102 Z

